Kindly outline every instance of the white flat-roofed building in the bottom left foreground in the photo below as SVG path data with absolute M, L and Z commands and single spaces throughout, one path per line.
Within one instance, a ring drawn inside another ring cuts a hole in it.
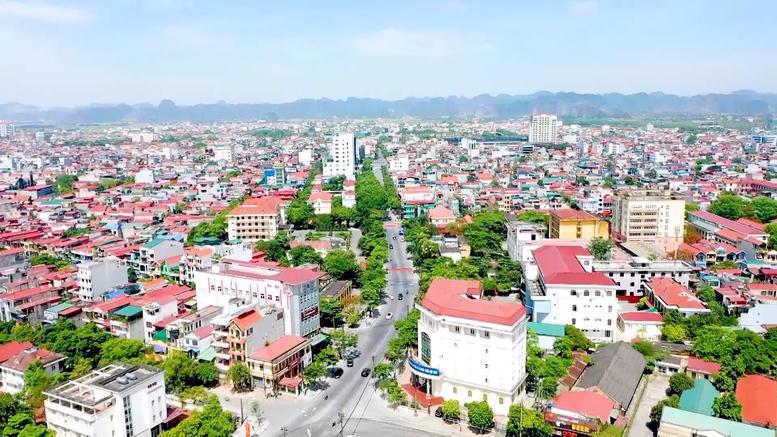
M 152 437 L 167 417 L 164 373 L 150 366 L 110 364 L 44 394 L 59 437 Z

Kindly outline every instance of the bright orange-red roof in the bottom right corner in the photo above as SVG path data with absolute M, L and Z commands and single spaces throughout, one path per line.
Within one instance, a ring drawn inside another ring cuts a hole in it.
M 745 422 L 777 426 L 777 381 L 763 375 L 747 375 L 737 383 L 736 395 Z

